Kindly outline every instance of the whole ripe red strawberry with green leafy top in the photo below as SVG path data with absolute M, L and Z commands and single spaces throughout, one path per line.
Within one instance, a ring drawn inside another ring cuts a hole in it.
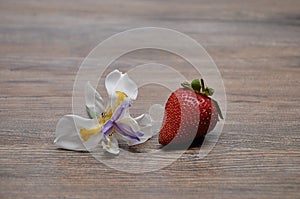
M 218 103 L 209 96 L 213 89 L 204 87 L 204 81 L 194 80 L 192 84 L 183 83 L 171 94 L 166 107 L 159 143 L 167 145 L 191 143 L 210 132 L 222 113 Z M 175 139 L 174 139 L 175 138 Z M 173 140 L 174 139 L 174 140 Z

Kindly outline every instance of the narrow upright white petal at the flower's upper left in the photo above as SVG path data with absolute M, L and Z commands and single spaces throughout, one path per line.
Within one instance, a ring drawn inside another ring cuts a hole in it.
M 94 87 L 87 82 L 85 85 L 85 103 L 92 111 L 101 114 L 105 111 L 104 101 Z

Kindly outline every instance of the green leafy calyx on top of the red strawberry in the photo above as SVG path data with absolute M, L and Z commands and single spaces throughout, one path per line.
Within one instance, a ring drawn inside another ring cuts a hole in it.
M 220 108 L 218 102 L 210 97 L 210 96 L 212 96 L 214 94 L 214 89 L 205 86 L 203 79 L 200 79 L 200 80 L 199 79 L 195 79 L 195 80 L 192 81 L 192 83 L 183 82 L 181 84 L 181 86 L 183 88 L 190 89 L 190 90 L 194 91 L 195 93 L 199 93 L 201 95 L 209 97 L 212 100 L 212 102 L 215 104 L 215 106 L 217 108 L 217 111 L 218 111 L 218 114 L 219 114 L 219 117 L 221 119 L 224 119 L 223 115 L 222 115 L 221 108 Z

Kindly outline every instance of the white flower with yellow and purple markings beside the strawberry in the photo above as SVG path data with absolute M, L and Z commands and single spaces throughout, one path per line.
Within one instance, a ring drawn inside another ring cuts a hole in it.
M 86 108 L 91 119 L 77 115 L 63 116 L 56 126 L 54 143 L 63 149 L 89 151 L 98 146 L 118 154 L 118 140 L 128 145 L 141 144 L 154 135 L 150 115 L 132 118 L 129 107 L 138 95 L 138 88 L 128 75 L 115 70 L 105 79 L 109 95 L 107 105 L 88 82 L 85 86 Z M 106 107 L 106 108 L 105 108 Z M 157 132 L 156 132 L 157 133 Z

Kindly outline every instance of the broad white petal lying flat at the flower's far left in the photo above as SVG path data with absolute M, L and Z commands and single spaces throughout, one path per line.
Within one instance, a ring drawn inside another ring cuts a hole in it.
M 57 123 L 54 143 L 60 148 L 75 151 L 87 151 L 95 148 L 101 136 L 91 137 L 91 141 L 85 142 L 85 147 L 79 132 L 81 128 L 92 129 L 98 125 L 97 120 L 85 119 L 77 115 L 65 115 Z

